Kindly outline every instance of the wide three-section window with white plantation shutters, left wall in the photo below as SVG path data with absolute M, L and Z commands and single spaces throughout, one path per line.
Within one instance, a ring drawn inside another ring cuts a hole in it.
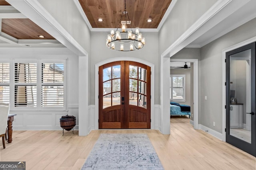
M 10 102 L 15 110 L 65 110 L 65 63 L 65 59 L 0 61 L 0 102 Z

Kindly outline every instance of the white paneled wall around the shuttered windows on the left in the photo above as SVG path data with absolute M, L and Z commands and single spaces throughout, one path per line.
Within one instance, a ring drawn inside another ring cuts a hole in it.
M 78 129 L 78 56 L 67 48 L 1 48 L 0 59 L 67 59 L 67 110 L 66 111 L 13 111 L 14 130 L 61 130 L 62 115 L 76 116 Z

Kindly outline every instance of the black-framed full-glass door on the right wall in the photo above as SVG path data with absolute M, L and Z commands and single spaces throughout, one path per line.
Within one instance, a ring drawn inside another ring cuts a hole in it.
M 255 43 L 226 53 L 226 142 L 256 156 Z

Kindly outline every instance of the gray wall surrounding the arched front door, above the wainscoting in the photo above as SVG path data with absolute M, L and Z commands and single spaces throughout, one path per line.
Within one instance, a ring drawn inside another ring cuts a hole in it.
M 92 32 L 91 34 L 91 57 L 90 57 L 90 72 L 89 72 L 89 105 L 95 104 L 95 64 L 102 61 L 118 58 L 132 57 L 138 58 L 155 65 L 155 104 L 159 104 L 159 63 L 158 63 L 158 33 L 157 32 L 142 32 L 146 38 L 146 45 L 137 51 L 121 52 L 113 51 L 106 47 L 106 38 L 108 32 Z

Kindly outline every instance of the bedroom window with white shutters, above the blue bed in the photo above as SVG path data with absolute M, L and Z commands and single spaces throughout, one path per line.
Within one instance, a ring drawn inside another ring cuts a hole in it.
M 185 75 L 170 75 L 170 100 L 185 102 Z

